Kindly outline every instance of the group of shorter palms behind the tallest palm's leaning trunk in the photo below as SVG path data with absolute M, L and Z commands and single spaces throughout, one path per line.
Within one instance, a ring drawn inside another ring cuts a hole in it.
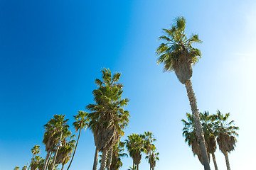
M 213 164 L 215 170 L 218 170 L 218 166 L 215 160 L 215 150 L 217 148 L 217 143 L 220 151 L 225 155 L 225 162 L 227 169 L 230 170 L 230 164 L 228 161 L 228 153 L 235 149 L 236 136 L 238 133 L 237 126 L 234 126 L 234 121 L 228 121 L 230 113 L 223 115 L 220 111 L 216 114 L 210 115 L 208 111 L 199 113 L 201 118 L 201 123 L 203 126 L 204 137 L 206 140 L 206 150 L 208 154 L 208 159 L 210 161 L 210 154 L 213 157 Z M 198 138 L 196 137 L 196 128 L 193 120 L 193 115 L 186 113 L 188 121 L 181 120 L 183 122 L 183 137 L 185 141 L 191 147 L 194 155 L 198 156 L 199 161 L 203 164 L 201 149 L 198 145 Z M 217 142 L 216 142 L 217 141 Z

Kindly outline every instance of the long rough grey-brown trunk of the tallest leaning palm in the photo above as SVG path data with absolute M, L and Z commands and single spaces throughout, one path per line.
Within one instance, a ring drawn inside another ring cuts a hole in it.
M 193 119 L 194 119 L 195 128 L 196 128 L 196 136 L 198 137 L 198 142 L 199 142 L 199 146 L 200 146 L 202 157 L 203 157 L 204 169 L 210 170 L 210 165 L 209 165 L 208 156 L 206 152 L 206 142 L 203 137 L 203 129 L 202 129 L 202 125 L 201 125 L 199 114 L 198 114 L 196 96 L 193 92 L 191 79 L 188 79 L 185 81 L 185 86 L 188 94 L 188 100 L 191 105 L 191 111 L 193 113 Z

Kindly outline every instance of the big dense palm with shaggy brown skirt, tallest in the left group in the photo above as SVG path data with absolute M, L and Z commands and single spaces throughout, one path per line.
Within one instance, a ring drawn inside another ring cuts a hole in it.
M 129 111 L 124 111 L 128 98 L 122 99 L 122 84 L 117 83 L 121 74 L 113 74 L 110 69 L 102 69 L 102 81 L 95 80 L 98 89 L 92 91 L 96 104 L 87 105 L 92 111 L 88 114 L 90 118 L 89 128 L 95 139 L 95 160 L 93 170 L 97 169 L 98 152 L 102 151 L 102 162 L 100 170 L 105 169 L 107 164 L 107 153 L 117 144 L 119 137 L 124 135 L 123 129 L 129 122 Z

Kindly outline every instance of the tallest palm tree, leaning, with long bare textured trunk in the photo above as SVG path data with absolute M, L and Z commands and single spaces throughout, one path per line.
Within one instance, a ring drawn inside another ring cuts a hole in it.
M 203 137 L 196 96 L 193 92 L 190 79 L 193 72 L 192 64 L 196 64 L 199 58 L 201 58 L 201 51 L 192 47 L 192 43 L 201 42 L 201 40 L 199 40 L 198 35 L 192 35 L 191 38 L 187 38 L 185 28 L 186 20 L 183 16 L 179 16 L 176 18 L 176 23 L 174 23 L 170 29 L 163 29 L 166 35 L 159 37 L 159 40 L 164 40 L 165 43 L 161 43 L 156 49 L 156 55 L 160 56 L 157 63 L 164 63 L 164 72 L 174 71 L 181 84 L 185 84 L 186 86 L 191 111 L 195 121 L 196 136 L 200 143 L 203 165 L 206 170 L 209 170 L 210 166 L 206 152 L 206 142 Z

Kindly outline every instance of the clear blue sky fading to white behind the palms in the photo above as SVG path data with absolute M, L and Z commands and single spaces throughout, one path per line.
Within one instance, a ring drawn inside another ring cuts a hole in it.
M 240 127 L 233 170 L 255 167 L 255 1 L 0 1 L 0 169 L 31 160 L 43 145 L 45 125 L 55 114 L 73 115 L 93 103 L 100 70 L 122 72 L 132 133 L 153 132 L 160 153 L 156 169 L 203 169 L 182 137 L 181 119 L 191 113 L 186 89 L 176 75 L 156 64 L 162 28 L 176 16 L 186 32 L 198 33 L 203 55 L 193 67 L 200 111 L 230 113 Z M 74 129 L 72 129 L 75 132 Z M 92 169 L 93 135 L 82 132 L 71 169 Z M 225 157 L 215 152 L 219 169 Z M 132 166 L 122 160 L 121 170 Z M 214 169 L 210 160 L 211 169 Z M 100 167 L 100 166 L 98 166 Z M 144 155 L 140 169 L 149 169 Z M 64 169 L 67 168 L 67 165 Z

